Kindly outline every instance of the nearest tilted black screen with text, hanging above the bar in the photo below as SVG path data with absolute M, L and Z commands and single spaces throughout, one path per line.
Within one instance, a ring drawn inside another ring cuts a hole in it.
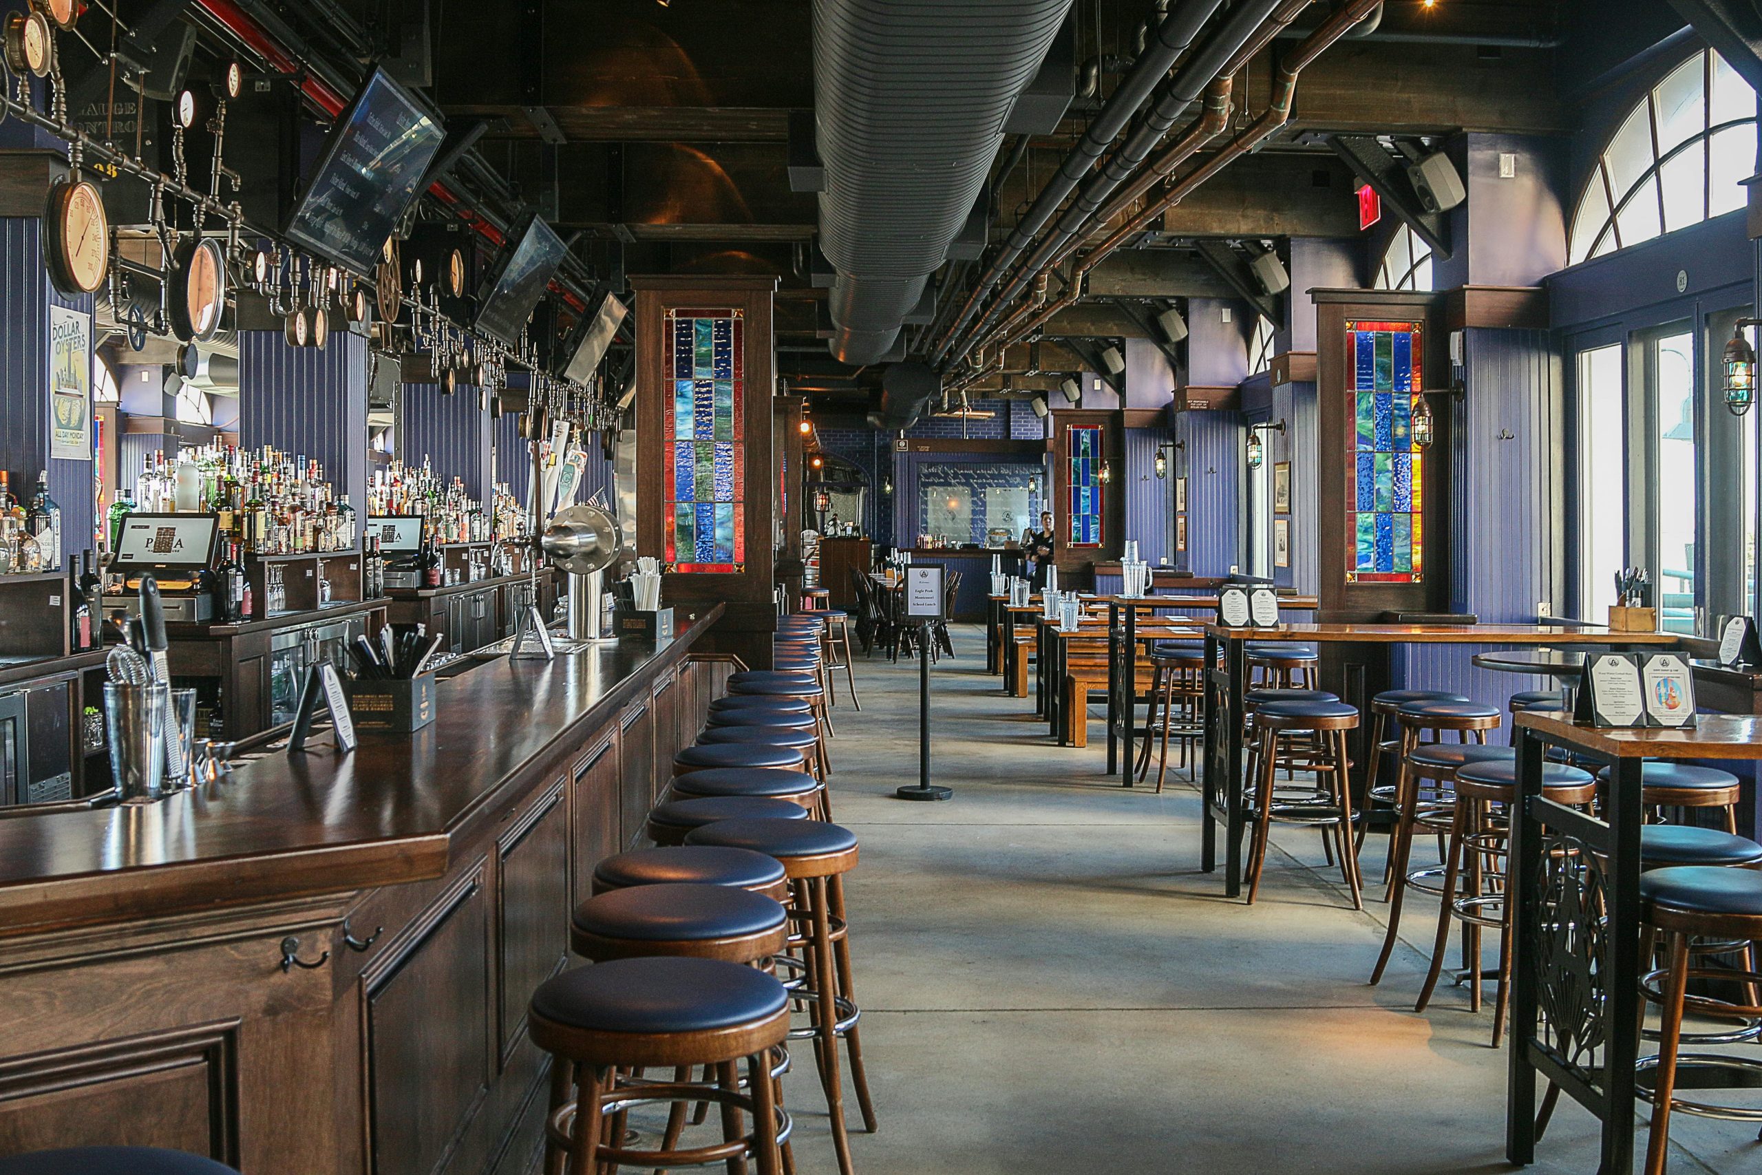
M 374 70 L 331 127 L 285 234 L 352 273 L 372 273 L 393 225 L 421 192 L 446 132 L 403 86 Z

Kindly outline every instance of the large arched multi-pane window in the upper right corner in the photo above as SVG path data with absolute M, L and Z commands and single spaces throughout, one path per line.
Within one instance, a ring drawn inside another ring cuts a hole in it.
M 1757 95 L 1711 49 L 1688 58 L 1621 122 L 1572 217 L 1566 264 L 1744 206 Z

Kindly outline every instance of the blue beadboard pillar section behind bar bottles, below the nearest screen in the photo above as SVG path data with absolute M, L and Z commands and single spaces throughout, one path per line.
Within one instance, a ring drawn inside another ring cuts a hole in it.
M 291 347 L 282 331 L 240 331 L 240 446 L 317 460 L 337 491 L 365 509 L 366 379 L 359 335 L 337 331 L 319 349 Z

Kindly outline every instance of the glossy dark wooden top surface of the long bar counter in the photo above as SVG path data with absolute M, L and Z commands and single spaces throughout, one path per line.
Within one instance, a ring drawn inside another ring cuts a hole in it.
M 358 731 L 349 756 L 324 735 L 159 803 L 0 819 L 0 934 L 439 877 L 455 833 L 499 819 L 506 786 L 553 770 L 721 615 L 661 648 L 485 662 L 435 684 L 430 726 Z

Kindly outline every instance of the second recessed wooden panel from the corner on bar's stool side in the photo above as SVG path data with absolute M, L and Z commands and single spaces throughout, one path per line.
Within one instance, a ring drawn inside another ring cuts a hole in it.
M 564 780 L 497 844 L 502 1057 L 527 1031 L 527 1002 L 569 957 L 569 805 Z

